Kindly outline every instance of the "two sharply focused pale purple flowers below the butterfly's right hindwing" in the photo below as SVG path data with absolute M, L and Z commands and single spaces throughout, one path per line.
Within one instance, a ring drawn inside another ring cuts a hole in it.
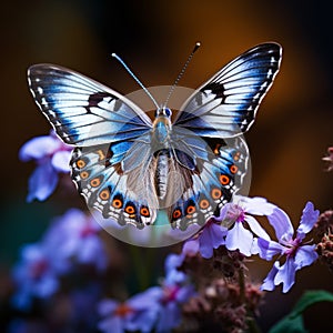
M 270 239 L 266 231 L 255 220 L 254 215 L 266 216 L 274 228 L 278 241 Z M 185 242 L 184 254 L 200 252 L 210 259 L 214 249 L 224 245 L 229 251 L 240 251 L 245 256 L 258 254 L 268 261 L 279 255 L 272 271 L 264 280 L 263 290 L 272 291 L 283 283 L 283 292 L 287 292 L 294 283 L 295 272 L 312 264 L 317 255 L 315 245 L 306 245 L 303 240 L 317 221 L 319 211 L 307 203 L 301 218 L 300 226 L 294 230 L 287 214 L 263 198 L 236 198 L 236 203 L 225 204 L 218 218 L 211 218 L 203 230 Z M 280 261 L 285 256 L 285 263 Z

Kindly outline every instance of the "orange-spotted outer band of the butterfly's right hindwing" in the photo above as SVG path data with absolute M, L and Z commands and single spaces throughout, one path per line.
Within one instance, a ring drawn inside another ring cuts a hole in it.
M 241 138 L 206 140 L 211 153 L 192 173 L 192 185 L 170 206 L 173 226 L 185 230 L 190 224 L 204 224 L 240 190 L 246 172 L 249 151 Z

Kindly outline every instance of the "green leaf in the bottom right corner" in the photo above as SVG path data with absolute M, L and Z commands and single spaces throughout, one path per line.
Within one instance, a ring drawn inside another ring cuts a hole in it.
M 304 327 L 302 313 L 311 305 L 319 302 L 333 302 L 333 294 L 324 290 L 307 291 L 295 304 L 292 312 L 279 321 L 270 333 L 303 333 Z

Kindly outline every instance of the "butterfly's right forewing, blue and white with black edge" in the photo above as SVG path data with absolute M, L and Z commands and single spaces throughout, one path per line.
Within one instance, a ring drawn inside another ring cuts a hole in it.
M 281 47 L 260 44 L 223 67 L 184 103 L 174 121 L 198 135 L 231 138 L 245 132 L 272 85 Z

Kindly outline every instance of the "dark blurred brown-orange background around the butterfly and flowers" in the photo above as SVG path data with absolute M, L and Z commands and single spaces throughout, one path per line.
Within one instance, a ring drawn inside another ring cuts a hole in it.
M 180 82 L 196 88 L 249 48 L 276 41 L 284 50 L 281 72 L 245 135 L 253 173 L 250 194 L 283 208 L 294 224 L 307 200 L 321 211 L 332 208 L 333 174 L 323 171 L 321 161 L 333 144 L 330 2 L 6 1 L 0 24 L 0 290 L 6 289 L 7 271 L 20 245 L 37 241 L 50 216 L 69 208 L 63 191 L 44 203 L 26 203 L 34 164 L 20 162 L 18 151 L 50 130 L 28 90 L 26 73 L 33 63 L 61 64 L 129 93 L 138 85 L 112 52 L 123 57 L 147 87 L 172 84 L 193 44 L 201 41 Z M 251 275 L 262 278 L 266 270 L 258 266 Z M 285 314 L 302 291 L 321 287 L 333 290 L 332 275 L 316 264 L 297 274 L 287 295 L 280 289 L 270 293 L 262 309 L 263 329 Z M 333 310 L 327 304 L 317 307 L 307 313 L 311 330 L 327 327 L 325 314 Z

